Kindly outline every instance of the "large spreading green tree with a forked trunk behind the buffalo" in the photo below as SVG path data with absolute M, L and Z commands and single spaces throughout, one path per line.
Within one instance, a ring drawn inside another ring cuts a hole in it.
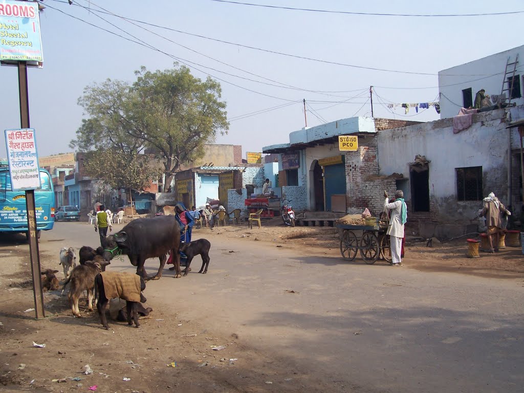
M 136 71 L 129 85 L 107 80 L 84 89 L 83 119 L 72 147 L 115 148 L 132 155 L 155 151 L 163 165 L 164 191 L 181 165 L 203 157 L 204 144 L 229 127 L 220 83 L 195 78 L 187 67 Z

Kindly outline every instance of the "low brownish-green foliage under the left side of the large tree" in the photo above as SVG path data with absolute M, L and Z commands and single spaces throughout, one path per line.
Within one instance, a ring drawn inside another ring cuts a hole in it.
M 162 173 L 160 165 L 148 156 L 129 158 L 114 149 L 92 151 L 85 157 L 84 169 L 88 176 L 114 189 L 143 190 Z

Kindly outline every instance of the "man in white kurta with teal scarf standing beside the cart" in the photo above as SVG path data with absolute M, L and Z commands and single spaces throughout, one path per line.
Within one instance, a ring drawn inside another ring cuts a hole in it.
M 391 259 L 393 266 L 402 266 L 400 253 L 402 250 L 402 238 L 404 237 L 404 224 L 408 217 L 404 193 L 402 190 L 395 191 L 395 202 L 389 203 L 388 194 L 384 192 L 384 209 L 391 210 L 391 218 L 387 234 L 391 247 Z

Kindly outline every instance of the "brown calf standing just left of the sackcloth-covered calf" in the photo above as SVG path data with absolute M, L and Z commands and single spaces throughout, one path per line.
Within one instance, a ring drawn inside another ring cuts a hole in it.
M 104 260 L 100 255 L 97 255 L 94 260 L 88 260 L 84 265 L 79 265 L 73 269 L 71 275 L 64 282 L 62 294 L 65 286 L 71 282 L 68 298 L 71 304 L 71 311 L 73 315 L 81 317 L 78 309 L 78 300 L 83 291 L 88 291 L 88 308 L 93 311 L 93 289 L 95 286 L 95 277 L 100 274 L 102 267 L 109 265 L 109 262 Z

